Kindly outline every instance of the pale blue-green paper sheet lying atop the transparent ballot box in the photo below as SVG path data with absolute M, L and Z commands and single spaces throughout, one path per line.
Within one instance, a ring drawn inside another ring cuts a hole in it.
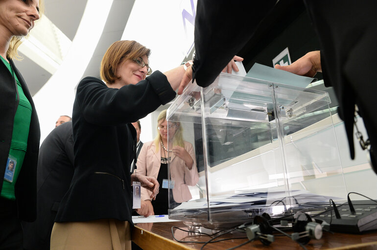
M 249 70 L 249 72 L 247 72 L 246 76 L 273 83 L 283 83 L 286 85 L 302 88 L 305 88 L 314 80 L 314 78 L 299 76 L 288 71 L 265 66 L 259 63 L 255 63 Z

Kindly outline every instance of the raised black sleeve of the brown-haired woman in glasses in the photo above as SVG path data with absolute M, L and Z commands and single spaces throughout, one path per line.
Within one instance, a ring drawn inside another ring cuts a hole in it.
M 125 125 L 145 117 L 175 95 L 166 76 L 156 71 L 135 85 L 119 89 L 109 88 L 93 77 L 84 78 L 77 86 L 75 102 L 91 124 Z

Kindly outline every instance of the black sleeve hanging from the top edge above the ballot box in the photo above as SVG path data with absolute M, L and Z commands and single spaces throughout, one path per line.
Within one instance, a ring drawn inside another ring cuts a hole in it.
M 251 39 L 276 0 L 198 0 L 192 81 L 207 87 Z M 243 25 L 242 25 L 243 24 Z

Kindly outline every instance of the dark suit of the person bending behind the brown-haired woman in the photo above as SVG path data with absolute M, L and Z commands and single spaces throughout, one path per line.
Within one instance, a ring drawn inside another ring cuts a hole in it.
M 53 129 L 43 141 L 37 168 L 37 219 L 24 223 L 24 249 L 49 250 L 59 203 L 73 176 L 72 122 Z

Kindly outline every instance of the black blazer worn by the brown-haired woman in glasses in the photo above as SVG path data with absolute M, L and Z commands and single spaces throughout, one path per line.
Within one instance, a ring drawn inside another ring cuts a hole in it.
M 74 174 L 56 222 L 131 220 L 131 178 L 136 130 L 130 123 L 175 97 L 166 76 L 154 72 L 136 85 L 109 88 L 86 77 L 73 104 Z

